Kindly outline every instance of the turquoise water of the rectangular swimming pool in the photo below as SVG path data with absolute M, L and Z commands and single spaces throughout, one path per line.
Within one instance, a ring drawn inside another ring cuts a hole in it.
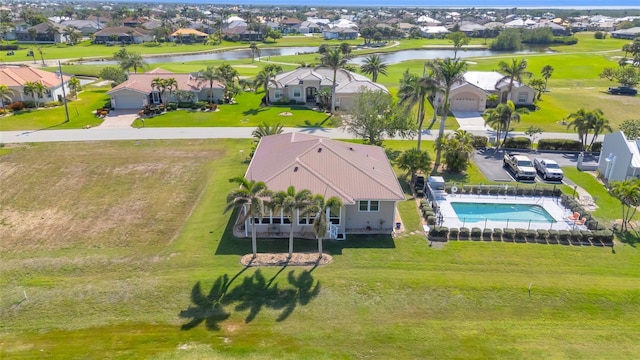
M 492 204 L 492 203 L 451 203 L 458 219 L 466 222 L 514 221 L 555 223 L 555 219 L 540 205 Z

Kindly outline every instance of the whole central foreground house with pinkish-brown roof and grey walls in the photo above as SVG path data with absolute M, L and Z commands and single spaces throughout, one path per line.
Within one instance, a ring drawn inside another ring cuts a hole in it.
M 338 197 L 342 208 L 328 216 L 327 233 L 333 239 L 391 233 L 396 204 L 405 199 L 383 148 L 297 132 L 262 137 L 245 178 L 264 181 L 272 191 L 294 186 L 325 198 Z M 244 224 L 245 236 L 250 236 L 249 221 Z M 257 232 L 271 236 L 286 237 L 292 222 L 298 236 L 313 234 L 313 216 L 299 212 L 290 219 L 267 208 L 254 221 Z

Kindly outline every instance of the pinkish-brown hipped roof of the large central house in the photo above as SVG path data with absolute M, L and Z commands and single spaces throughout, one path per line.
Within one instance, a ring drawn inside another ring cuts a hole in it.
M 404 192 L 379 146 L 353 144 L 303 133 L 265 136 L 245 174 L 273 191 L 309 189 L 345 204 L 358 200 L 404 200 Z

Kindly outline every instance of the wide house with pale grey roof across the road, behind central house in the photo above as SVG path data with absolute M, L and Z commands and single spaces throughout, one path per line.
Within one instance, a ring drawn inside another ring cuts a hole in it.
M 328 67 L 298 68 L 280 73 L 269 84 L 269 99 L 272 102 L 318 103 L 320 89 L 331 90 L 333 70 Z M 348 110 L 362 89 L 388 92 L 383 85 L 369 80 L 366 76 L 344 69 L 336 73 L 336 107 Z

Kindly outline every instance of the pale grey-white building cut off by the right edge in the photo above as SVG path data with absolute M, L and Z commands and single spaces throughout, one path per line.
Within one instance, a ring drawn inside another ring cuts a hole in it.
M 629 140 L 622 131 L 606 134 L 598 171 L 607 181 L 640 178 L 640 139 Z

